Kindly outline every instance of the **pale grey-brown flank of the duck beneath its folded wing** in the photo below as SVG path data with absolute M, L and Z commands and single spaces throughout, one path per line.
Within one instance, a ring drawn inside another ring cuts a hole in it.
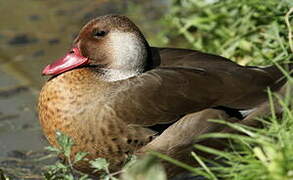
M 211 119 L 220 119 L 229 123 L 237 123 L 244 127 L 261 128 L 263 124 L 259 119 L 272 115 L 272 106 L 274 107 L 274 115 L 277 117 L 282 116 L 284 107 L 278 102 L 280 102 L 280 99 L 285 100 L 286 96 L 288 97 L 288 93 L 293 95 L 293 91 L 290 91 L 289 83 L 286 83 L 279 91 L 275 92 L 275 97 L 273 97 L 272 100 L 267 99 L 246 113 L 241 119 L 231 116 L 227 111 L 213 108 L 188 114 L 168 127 L 156 139 L 139 149 L 136 154 L 140 157 L 147 154 L 149 151 L 159 152 L 179 162 L 184 162 L 190 167 L 200 166 L 191 152 L 205 159 L 219 159 L 212 153 L 194 148 L 194 145 L 201 145 L 218 151 L 229 151 L 228 144 L 231 143 L 229 139 L 199 138 L 201 135 L 209 133 L 229 133 L 245 136 L 247 134 L 230 126 L 226 126 L 225 124 L 214 123 L 210 121 Z M 168 161 L 162 161 L 162 163 L 169 178 L 177 176 L 178 174 L 188 173 L 188 170 L 178 167 L 178 165 L 173 163 L 169 163 Z

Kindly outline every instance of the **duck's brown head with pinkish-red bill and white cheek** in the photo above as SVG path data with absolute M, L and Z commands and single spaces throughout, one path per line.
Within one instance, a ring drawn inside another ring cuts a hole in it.
M 43 74 L 57 75 L 81 66 L 101 70 L 105 80 L 126 79 L 151 68 L 150 48 L 127 17 L 98 17 L 81 29 L 72 49 L 48 65 Z

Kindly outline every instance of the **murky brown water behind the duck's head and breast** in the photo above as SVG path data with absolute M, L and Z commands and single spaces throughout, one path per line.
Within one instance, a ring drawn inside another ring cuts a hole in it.
M 163 0 L 0 0 L 0 168 L 48 145 L 36 112 L 47 79 L 40 72 L 65 54 L 82 25 L 121 13 L 155 42 L 167 7 Z

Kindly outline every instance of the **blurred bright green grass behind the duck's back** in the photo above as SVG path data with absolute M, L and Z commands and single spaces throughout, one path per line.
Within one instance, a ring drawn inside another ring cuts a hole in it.
M 198 49 L 242 64 L 271 64 L 292 57 L 285 13 L 290 0 L 173 0 L 160 34 L 166 45 Z

